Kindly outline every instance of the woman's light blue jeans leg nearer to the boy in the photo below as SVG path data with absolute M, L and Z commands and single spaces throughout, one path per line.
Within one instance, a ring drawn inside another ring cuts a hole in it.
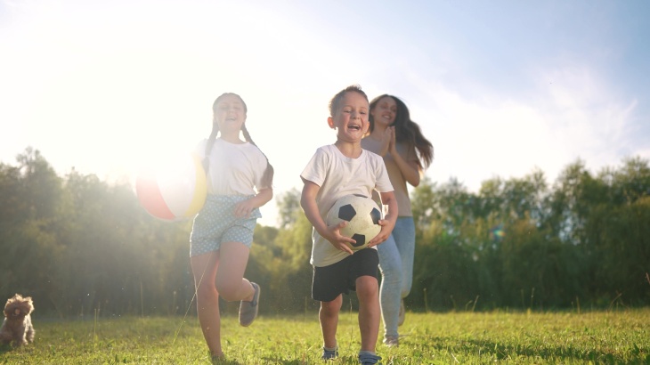
M 379 296 L 381 316 L 384 320 L 384 337 L 396 339 L 399 337 L 397 322 L 402 301 L 402 258 L 393 235 L 378 245 L 377 250 L 379 271 L 382 276 Z

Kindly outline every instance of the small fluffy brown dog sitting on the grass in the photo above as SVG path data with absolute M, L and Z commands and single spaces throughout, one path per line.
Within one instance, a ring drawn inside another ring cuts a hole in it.
M 0 328 L 0 343 L 20 346 L 34 342 L 34 326 L 31 324 L 34 304 L 31 296 L 16 294 L 4 305 L 4 322 Z

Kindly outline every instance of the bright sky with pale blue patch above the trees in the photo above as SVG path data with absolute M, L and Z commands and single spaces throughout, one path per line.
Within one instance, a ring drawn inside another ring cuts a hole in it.
M 0 163 L 134 182 L 193 150 L 239 93 L 278 197 L 335 142 L 347 85 L 390 93 L 468 191 L 581 160 L 650 158 L 650 2 L 0 0 Z

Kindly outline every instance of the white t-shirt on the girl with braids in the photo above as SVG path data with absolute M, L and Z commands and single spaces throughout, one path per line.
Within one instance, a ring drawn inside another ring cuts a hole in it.
M 207 139 L 199 142 L 196 153 L 203 159 Z M 207 193 L 213 195 L 255 195 L 268 161 L 255 144 L 215 140 L 209 157 Z

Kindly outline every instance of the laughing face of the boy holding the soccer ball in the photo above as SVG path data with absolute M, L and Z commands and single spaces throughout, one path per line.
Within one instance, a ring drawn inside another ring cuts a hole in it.
M 345 93 L 338 110 L 328 118 L 329 127 L 337 130 L 338 141 L 361 142 L 370 127 L 368 109 L 368 101 L 361 93 Z

